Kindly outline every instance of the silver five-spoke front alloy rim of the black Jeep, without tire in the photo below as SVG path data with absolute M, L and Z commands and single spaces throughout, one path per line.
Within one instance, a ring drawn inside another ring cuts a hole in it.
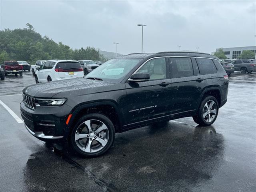
M 84 152 L 98 152 L 108 143 L 109 130 L 100 120 L 86 120 L 76 129 L 74 139 L 78 148 Z

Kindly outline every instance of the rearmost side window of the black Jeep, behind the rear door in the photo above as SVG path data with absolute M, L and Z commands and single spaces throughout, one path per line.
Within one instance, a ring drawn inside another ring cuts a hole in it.
M 216 66 L 212 59 L 196 58 L 201 75 L 213 74 L 217 72 Z

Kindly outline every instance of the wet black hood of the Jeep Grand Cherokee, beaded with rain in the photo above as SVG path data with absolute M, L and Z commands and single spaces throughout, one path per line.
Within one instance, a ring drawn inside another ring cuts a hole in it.
M 52 98 L 54 96 L 54 98 L 65 98 L 67 95 L 78 96 L 118 89 L 120 86 L 116 86 L 116 83 L 74 78 L 34 84 L 24 88 L 22 92 L 39 98 Z

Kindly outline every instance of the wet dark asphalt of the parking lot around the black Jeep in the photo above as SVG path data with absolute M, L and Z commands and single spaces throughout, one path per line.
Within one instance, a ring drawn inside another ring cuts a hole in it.
M 31 72 L 0 80 L 0 100 L 18 117 Z M 116 134 L 98 158 L 48 146 L 0 105 L 0 191 L 255 192 L 256 73 L 230 77 L 228 102 L 212 126 L 192 118 Z

